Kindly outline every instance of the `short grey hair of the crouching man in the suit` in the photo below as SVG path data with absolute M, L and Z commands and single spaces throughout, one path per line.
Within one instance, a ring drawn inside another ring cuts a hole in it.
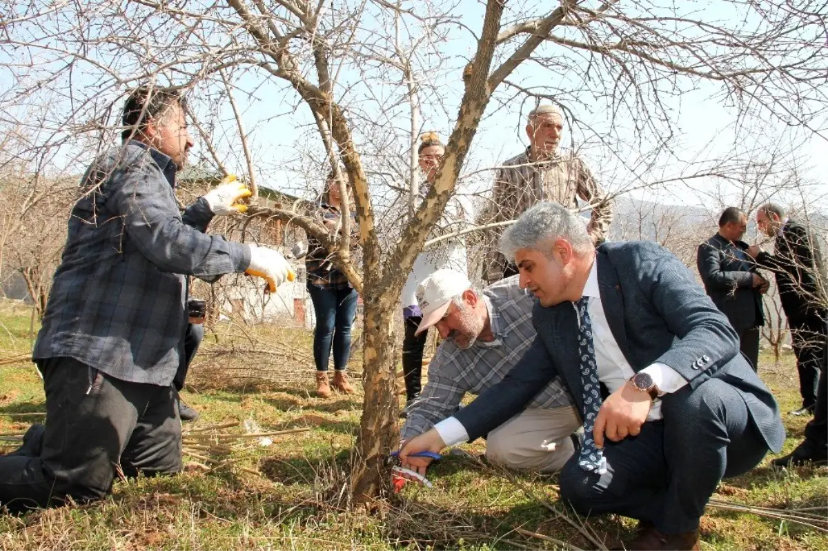
M 586 220 L 557 203 L 538 203 L 522 213 L 517 222 L 503 232 L 500 252 L 513 260 L 520 249 L 549 254 L 548 247 L 559 237 L 570 242 L 575 252 L 587 252 L 595 245 L 586 232 Z

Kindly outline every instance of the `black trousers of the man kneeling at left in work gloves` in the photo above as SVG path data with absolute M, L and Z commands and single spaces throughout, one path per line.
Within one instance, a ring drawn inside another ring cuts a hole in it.
M 0 458 L 0 505 L 10 510 L 106 496 L 116 472 L 181 471 L 172 386 L 121 381 L 69 357 L 38 362 L 46 390 L 42 438 Z M 37 436 L 30 429 L 27 436 Z

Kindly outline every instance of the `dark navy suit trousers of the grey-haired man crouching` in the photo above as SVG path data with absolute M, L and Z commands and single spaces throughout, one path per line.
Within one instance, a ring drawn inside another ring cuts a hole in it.
M 685 386 L 662 402 L 664 419 L 645 423 L 635 438 L 605 440 L 603 475 L 566 463 L 561 497 L 576 511 L 649 520 L 664 534 L 689 532 L 721 479 L 749 472 L 768 452 L 744 398 L 724 381 Z

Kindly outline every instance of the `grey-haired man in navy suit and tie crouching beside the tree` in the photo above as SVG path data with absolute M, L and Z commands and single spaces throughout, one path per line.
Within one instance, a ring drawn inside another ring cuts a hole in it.
M 626 549 L 700 549 L 699 520 L 720 480 L 785 439 L 727 318 L 676 256 L 652 242 L 596 251 L 560 205 L 527 210 L 501 250 L 539 299 L 535 343 L 498 385 L 406 443 L 403 466 L 427 464 L 412 453 L 483 436 L 561 376 L 585 421 L 561 497 L 584 515 L 638 519 Z

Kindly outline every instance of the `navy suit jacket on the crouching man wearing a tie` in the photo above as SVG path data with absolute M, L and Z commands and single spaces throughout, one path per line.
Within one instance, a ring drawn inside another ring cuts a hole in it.
M 716 377 L 739 391 L 768 448 L 778 452 L 785 429 L 776 400 L 739 353 L 739 338 L 686 266 L 652 242 L 604 243 L 598 248 L 598 282 L 609 327 L 630 367 L 653 362 L 672 367 L 690 391 Z M 578 320 L 572 303 L 536 304 L 537 337 L 512 371 L 455 414 L 479 438 L 515 414 L 556 376 L 583 411 Z M 685 389 L 679 390 L 685 391 Z

